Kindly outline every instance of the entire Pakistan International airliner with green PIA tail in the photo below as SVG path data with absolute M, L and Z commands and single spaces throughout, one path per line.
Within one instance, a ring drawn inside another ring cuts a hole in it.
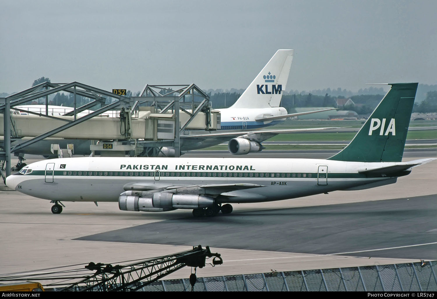
M 121 210 L 193 215 L 232 212 L 231 203 L 269 202 L 393 184 L 413 167 L 401 162 L 417 83 L 391 90 L 350 144 L 323 159 L 109 158 L 39 161 L 6 178 L 10 188 L 62 202 L 118 202 Z M 64 206 L 65 207 L 65 206 Z

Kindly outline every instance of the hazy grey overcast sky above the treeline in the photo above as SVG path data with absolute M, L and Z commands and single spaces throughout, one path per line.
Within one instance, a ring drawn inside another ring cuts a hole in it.
M 435 0 L 5 0 L 0 11 L 0 92 L 42 76 L 246 88 L 277 49 L 295 50 L 286 90 L 437 83 Z

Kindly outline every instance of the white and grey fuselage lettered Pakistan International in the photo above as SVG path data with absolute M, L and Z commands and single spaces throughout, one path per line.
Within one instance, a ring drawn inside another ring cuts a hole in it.
M 335 190 L 395 183 L 409 174 L 361 174 L 394 162 L 361 163 L 317 159 L 105 158 L 39 161 L 7 177 L 21 193 L 54 201 L 117 202 L 127 184 L 153 188 L 251 183 L 262 187 L 223 193 L 218 202 L 266 202 Z

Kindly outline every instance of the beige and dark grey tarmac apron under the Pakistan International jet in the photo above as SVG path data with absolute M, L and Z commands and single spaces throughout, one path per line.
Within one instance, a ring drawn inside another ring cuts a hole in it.
M 423 158 L 429 152 L 413 153 Z M 289 151 L 258 154 L 281 157 Z M 65 202 L 62 214 L 54 215 L 49 201 L 0 191 L 0 275 L 90 261 L 117 264 L 198 244 L 224 260 L 198 269 L 198 277 L 434 260 L 436 163 L 388 186 L 234 205 L 230 215 L 203 219 L 188 210 L 125 212 L 103 202 Z M 184 268 L 167 278 L 190 272 Z

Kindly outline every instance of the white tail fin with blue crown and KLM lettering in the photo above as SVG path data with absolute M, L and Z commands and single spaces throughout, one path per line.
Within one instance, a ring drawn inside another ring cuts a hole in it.
M 277 50 L 232 108 L 279 107 L 293 61 L 293 50 Z

